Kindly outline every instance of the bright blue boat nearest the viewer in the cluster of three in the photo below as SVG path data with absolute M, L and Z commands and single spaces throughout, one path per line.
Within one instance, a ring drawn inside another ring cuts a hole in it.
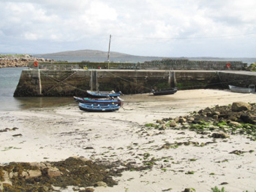
M 79 109 L 89 112 L 111 112 L 117 111 L 120 108 L 118 104 L 85 104 L 79 102 Z

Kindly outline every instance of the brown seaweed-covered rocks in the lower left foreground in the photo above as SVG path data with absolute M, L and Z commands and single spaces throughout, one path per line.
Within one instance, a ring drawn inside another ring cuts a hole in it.
M 82 157 L 69 157 L 60 162 L 9 163 L 0 166 L 0 191 L 53 191 L 54 187 L 106 186 L 117 184 L 104 164 Z

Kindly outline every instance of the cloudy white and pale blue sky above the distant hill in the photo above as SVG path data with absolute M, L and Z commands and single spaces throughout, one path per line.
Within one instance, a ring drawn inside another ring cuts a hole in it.
M 0 0 L 0 53 L 256 57 L 255 0 Z

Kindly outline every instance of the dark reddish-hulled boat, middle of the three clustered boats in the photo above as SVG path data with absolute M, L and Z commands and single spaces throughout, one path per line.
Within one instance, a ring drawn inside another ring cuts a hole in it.
M 121 98 L 117 97 L 116 99 L 114 98 L 82 98 L 82 97 L 74 97 L 74 100 L 76 102 L 82 102 L 86 104 L 118 104 L 121 107 L 123 106 L 123 101 Z

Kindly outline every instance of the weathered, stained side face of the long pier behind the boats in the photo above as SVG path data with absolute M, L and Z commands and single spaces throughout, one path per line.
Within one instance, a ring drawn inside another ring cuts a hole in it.
M 181 90 L 256 84 L 256 73 L 198 70 L 23 70 L 14 97 L 86 95 L 86 90 L 124 94 L 178 87 Z M 40 87 L 41 86 L 41 87 Z

